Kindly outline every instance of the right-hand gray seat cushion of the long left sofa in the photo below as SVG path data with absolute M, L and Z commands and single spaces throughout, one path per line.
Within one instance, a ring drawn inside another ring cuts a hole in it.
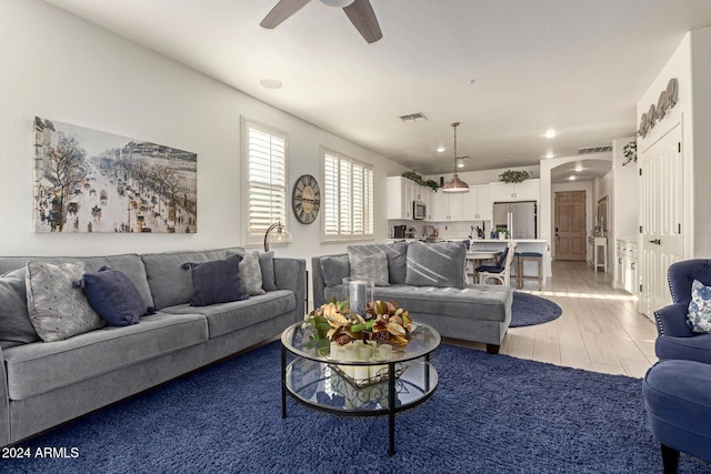
M 180 304 L 166 307 L 162 311 L 174 314 L 198 313 L 204 315 L 208 321 L 210 339 L 212 339 L 279 316 L 296 307 L 297 301 L 292 291 L 277 290 L 252 296 L 249 300 L 209 306 Z

